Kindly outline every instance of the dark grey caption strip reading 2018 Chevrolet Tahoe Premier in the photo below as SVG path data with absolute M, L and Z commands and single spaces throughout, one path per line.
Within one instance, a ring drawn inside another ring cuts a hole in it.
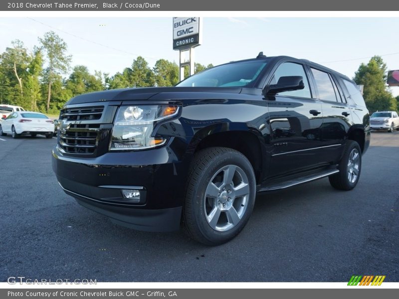
M 6 0 L 1 11 L 396 11 L 399 1 L 379 0 Z

